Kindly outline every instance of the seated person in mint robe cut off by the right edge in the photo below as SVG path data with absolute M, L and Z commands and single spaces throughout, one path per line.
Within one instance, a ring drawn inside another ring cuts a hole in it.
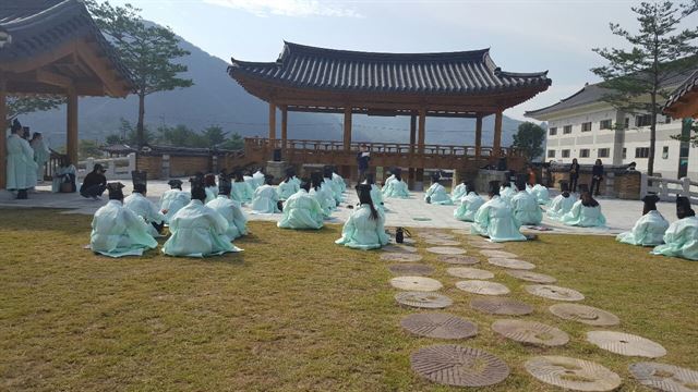
M 698 261 L 698 218 L 687 197 L 676 197 L 676 217 L 664 233 L 664 245 L 654 247 L 652 254 Z

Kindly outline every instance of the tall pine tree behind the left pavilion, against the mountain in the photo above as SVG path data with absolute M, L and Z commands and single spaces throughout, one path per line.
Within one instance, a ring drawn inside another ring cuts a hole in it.
M 87 0 L 97 25 L 113 44 L 119 57 L 133 74 L 135 94 L 139 96 L 136 145 L 145 140 L 145 97 L 158 91 L 190 87 L 192 79 L 178 75 L 186 72 L 186 65 L 173 60 L 189 56 L 179 47 L 179 38 L 169 27 L 146 25 L 141 10 L 131 4 L 112 7 L 108 1 Z

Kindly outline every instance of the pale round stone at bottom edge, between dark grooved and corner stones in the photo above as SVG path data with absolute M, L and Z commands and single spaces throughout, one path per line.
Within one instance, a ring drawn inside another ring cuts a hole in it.
M 527 360 L 524 367 L 538 380 L 566 390 L 613 391 L 622 383 L 618 375 L 590 360 L 535 356 Z

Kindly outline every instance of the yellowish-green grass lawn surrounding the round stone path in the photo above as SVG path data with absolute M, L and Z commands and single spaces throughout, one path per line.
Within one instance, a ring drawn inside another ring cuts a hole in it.
M 83 249 L 89 222 L 50 210 L 0 210 L 0 390 L 450 390 L 412 373 L 410 354 L 444 342 L 400 329 L 402 317 L 421 310 L 395 304 L 381 252 L 333 243 L 340 226 L 298 232 L 252 222 L 252 234 L 236 242 L 242 254 L 110 259 Z M 539 354 L 598 362 L 621 375 L 622 390 L 645 390 L 627 371 L 641 358 L 587 343 L 586 331 L 602 328 L 556 318 L 546 309 L 555 302 L 527 294 L 525 282 L 468 248 L 483 261 L 474 267 L 534 305 L 522 319 L 556 326 L 571 340 L 538 348 L 494 334 L 497 317 L 471 310 L 473 295 L 445 272 L 453 266 L 418 246 L 455 302 L 446 311 L 479 327 L 474 339 L 457 343 L 512 368 L 488 391 L 557 391 L 524 370 Z M 617 315 L 621 326 L 610 329 L 661 343 L 669 354 L 659 362 L 698 369 L 698 262 L 600 236 L 541 235 L 506 250 L 586 294 L 581 304 Z

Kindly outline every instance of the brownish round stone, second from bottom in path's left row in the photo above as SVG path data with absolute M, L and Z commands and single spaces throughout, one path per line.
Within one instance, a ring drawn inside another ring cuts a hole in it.
M 447 314 L 407 316 L 400 326 L 416 335 L 435 339 L 467 339 L 478 334 L 478 326 Z

